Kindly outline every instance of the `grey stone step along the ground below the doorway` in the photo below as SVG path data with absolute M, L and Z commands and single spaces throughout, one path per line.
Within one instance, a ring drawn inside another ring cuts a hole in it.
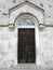
M 42 67 L 35 67 L 35 68 L 0 68 L 0 70 L 52 70 L 52 69 L 45 69 Z

